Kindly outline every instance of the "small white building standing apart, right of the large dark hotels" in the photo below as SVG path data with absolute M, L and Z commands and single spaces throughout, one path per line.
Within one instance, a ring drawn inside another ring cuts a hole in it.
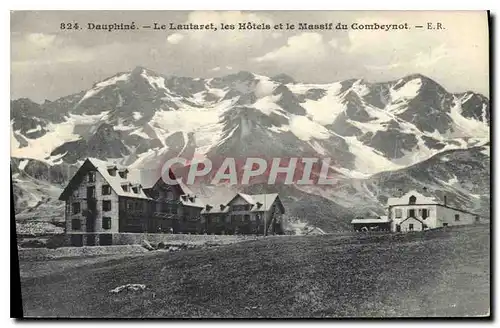
M 446 197 L 442 202 L 417 191 L 387 200 L 391 231 L 421 231 L 446 226 L 479 223 L 478 215 L 449 206 Z

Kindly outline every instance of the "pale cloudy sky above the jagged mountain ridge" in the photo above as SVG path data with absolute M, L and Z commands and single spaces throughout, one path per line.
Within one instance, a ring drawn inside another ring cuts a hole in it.
M 61 30 L 77 22 L 80 30 Z M 97 31 L 88 23 L 214 23 L 217 31 Z M 222 30 L 220 24 L 269 24 Z M 404 24 L 410 30 L 280 30 L 279 23 Z M 444 29 L 427 29 L 427 23 Z M 424 28 L 416 29 L 415 25 Z M 397 80 L 420 73 L 450 92 L 488 96 L 486 12 L 459 11 L 16 11 L 11 14 L 11 98 L 37 102 L 87 90 L 137 66 L 165 75 L 285 73 L 304 83 Z

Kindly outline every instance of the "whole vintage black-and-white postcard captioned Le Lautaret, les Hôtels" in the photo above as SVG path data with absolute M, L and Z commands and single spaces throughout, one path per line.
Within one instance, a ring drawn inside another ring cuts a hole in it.
M 25 318 L 491 316 L 488 12 L 10 18 Z

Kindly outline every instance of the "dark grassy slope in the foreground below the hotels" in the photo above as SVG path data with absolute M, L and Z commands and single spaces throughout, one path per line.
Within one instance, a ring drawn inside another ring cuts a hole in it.
M 488 228 L 270 237 L 113 259 L 23 279 L 24 311 L 63 317 L 485 315 Z M 109 293 L 127 283 L 147 288 Z

